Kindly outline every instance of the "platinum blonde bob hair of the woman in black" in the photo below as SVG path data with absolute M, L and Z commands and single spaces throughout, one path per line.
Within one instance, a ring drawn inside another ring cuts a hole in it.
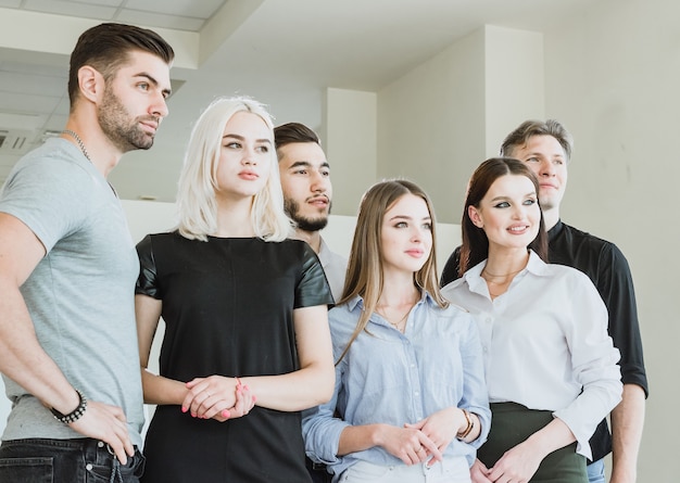
M 177 190 L 177 230 L 185 238 L 207 241 L 207 236 L 217 232 L 215 191 L 222 138 L 225 126 L 239 112 L 260 116 L 267 125 L 272 139 L 267 181 L 253 196 L 251 208 L 255 236 L 266 241 L 282 241 L 292 232 L 292 221 L 284 211 L 272 116 L 260 102 L 235 97 L 214 100 L 203 111 L 191 131 Z

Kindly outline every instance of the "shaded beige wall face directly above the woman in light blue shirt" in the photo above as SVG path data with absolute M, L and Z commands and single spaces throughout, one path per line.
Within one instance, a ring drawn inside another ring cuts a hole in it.
M 417 182 L 457 223 L 484 155 L 484 35 L 477 30 L 380 90 L 378 175 Z

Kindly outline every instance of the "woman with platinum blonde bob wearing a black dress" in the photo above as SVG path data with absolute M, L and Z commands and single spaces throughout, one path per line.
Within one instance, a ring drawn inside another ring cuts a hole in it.
M 332 392 L 332 296 L 312 249 L 287 239 L 273 126 L 260 103 L 225 98 L 205 110 L 177 204 L 177 230 L 138 245 L 142 384 L 159 405 L 142 481 L 310 481 L 300 411 Z

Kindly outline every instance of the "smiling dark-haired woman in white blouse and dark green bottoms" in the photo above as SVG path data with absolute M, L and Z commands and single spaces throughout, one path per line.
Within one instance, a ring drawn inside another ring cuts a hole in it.
M 484 353 L 491 433 L 475 483 L 587 483 L 589 437 L 618 404 L 618 351 L 590 279 L 546 260 L 539 185 L 520 161 L 473 175 L 461 270 L 442 294 L 475 316 Z

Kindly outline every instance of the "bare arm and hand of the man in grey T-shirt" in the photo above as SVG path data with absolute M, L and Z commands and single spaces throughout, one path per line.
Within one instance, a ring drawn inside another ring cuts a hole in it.
M 26 225 L 0 213 L 0 371 L 45 406 L 66 415 L 78 406 L 78 395 L 38 342 L 20 291 L 45 255 L 45 246 Z M 118 407 L 89 401 L 83 417 L 70 427 L 109 443 L 123 463 L 126 454 L 134 455 L 126 418 Z

